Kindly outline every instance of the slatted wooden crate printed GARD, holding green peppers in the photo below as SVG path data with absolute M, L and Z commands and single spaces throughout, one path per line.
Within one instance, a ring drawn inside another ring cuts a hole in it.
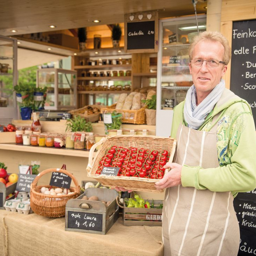
M 151 205 L 152 200 L 148 202 Z M 155 207 L 162 203 L 154 200 Z M 162 226 L 162 209 L 126 207 L 124 202 L 123 219 L 125 226 Z

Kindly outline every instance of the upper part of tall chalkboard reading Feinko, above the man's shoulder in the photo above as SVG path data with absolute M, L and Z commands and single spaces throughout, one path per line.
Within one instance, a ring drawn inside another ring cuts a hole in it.
M 230 90 L 248 101 L 256 123 L 256 20 L 233 22 Z

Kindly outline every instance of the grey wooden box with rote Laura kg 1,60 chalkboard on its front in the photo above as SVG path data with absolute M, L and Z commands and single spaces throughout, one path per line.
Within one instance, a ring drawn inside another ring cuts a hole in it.
M 85 195 L 97 196 L 100 201 L 84 200 Z M 70 199 L 66 204 L 65 230 L 105 235 L 118 219 L 117 196 L 115 190 L 87 188 L 78 198 Z

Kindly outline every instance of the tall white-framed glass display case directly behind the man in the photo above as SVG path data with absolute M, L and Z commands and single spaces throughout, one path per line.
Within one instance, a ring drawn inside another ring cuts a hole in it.
M 206 15 L 199 15 L 199 32 L 206 30 Z M 169 137 L 173 108 L 193 84 L 188 50 L 197 35 L 195 16 L 159 21 L 156 135 Z

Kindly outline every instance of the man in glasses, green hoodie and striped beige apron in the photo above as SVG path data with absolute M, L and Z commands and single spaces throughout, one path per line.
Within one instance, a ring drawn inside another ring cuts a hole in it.
M 231 50 L 219 32 L 203 32 L 190 46 L 193 86 L 174 109 L 173 163 L 157 189 L 166 189 L 164 255 L 235 256 L 238 192 L 256 187 L 256 134 L 249 104 L 222 79 Z

